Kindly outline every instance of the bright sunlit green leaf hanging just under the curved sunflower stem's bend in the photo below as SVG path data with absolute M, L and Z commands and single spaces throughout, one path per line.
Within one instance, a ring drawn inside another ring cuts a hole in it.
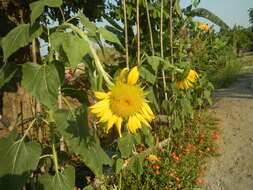
M 70 32 L 55 32 L 50 35 L 50 40 L 53 48 L 57 51 L 61 47 L 63 48 L 72 68 L 81 63 L 83 57 L 89 51 L 88 43 Z

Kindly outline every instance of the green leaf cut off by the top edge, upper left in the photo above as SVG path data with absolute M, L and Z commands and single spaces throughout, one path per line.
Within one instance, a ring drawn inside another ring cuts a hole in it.
M 35 20 L 43 13 L 45 6 L 60 7 L 61 4 L 62 0 L 39 0 L 31 3 L 31 23 L 33 24 Z

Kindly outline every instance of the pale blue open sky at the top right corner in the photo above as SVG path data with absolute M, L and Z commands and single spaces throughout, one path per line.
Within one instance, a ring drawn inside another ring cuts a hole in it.
M 190 5 L 191 1 L 181 0 L 181 7 L 184 8 Z M 230 27 L 234 25 L 249 27 L 248 10 L 253 8 L 253 0 L 201 0 L 198 8 L 208 9 Z M 207 23 L 209 24 L 209 22 Z

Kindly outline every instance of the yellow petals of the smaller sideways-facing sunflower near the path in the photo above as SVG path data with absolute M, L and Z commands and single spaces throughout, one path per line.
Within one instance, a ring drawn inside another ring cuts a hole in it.
M 192 69 L 190 69 L 186 74 L 187 75 L 185 77 L 176 82 L 176 86 L 180 89 L 192 87 L 192 83 L 196 82 L 199 78 L 198 73 Z

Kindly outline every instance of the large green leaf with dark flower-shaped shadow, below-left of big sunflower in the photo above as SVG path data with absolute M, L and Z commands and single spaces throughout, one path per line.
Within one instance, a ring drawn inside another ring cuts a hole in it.
M 89 134 L 86 108 L 58 110 L 53 114 L 57 130 L 68 141 L 76 154 L 97 176 L 103 174 L 103 165 L 111 165 L 110 158 L 100 146 L 99 139 Z

